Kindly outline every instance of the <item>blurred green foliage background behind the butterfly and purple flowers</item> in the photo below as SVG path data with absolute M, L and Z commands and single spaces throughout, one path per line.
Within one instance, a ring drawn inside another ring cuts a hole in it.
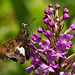
M 37 33 L 39 26 L 46 27 L 43 23 L 43 15 L 44 9 L 50 3 L 54 6 L 56 3 L 61 5 L 60 15 L 63 14 L 65 7 L 70 11 L 70 18 L 65 22 L 63 32 L 72 23 L 75 24 L 75 0 L 0 0 L 0 45 L 17 35 L 22 23 L 30 23 L 34 18 L 37 19 L 30 24 L 33 33 Z M 29 26 L 26 27 L 26 31 L 27 33 L 32 32 Z M 75 42 L 75 39 L 73 41 Z M 68 55 L 75 52 L 74 46 L 75 43 L 73 43 Z M 0 61 L 0 75 L 32 75 L 27 74 L 25 70 L 30 65 L 30 60 L 23 65 L 12 60 Z

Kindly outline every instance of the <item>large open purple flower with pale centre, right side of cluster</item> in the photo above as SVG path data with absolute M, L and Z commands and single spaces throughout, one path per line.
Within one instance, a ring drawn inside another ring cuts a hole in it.
M 71 40 L 71 35 L 69 35 L 69 34 L 60 34 L 59 37 L 60 37 L 60 40 L 58 40 L 57 43 L 56 43 L 56 49 L 58 51 L 63 52 L 63 51 L 66 50 L 67 47 L 68 48 L 72 47 L 72 41 L 70 41 Z

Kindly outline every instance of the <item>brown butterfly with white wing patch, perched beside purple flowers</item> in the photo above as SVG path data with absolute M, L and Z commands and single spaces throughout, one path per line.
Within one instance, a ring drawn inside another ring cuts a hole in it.
M 20 29 L 17 36 L 11 38 L 0 46 L 0 59 L 12 59 L 19 61 L 21 64 L 25 62 L 25 59 L 29 59 L 30 55 L 30 40 L 26 33 L 25 27 Z

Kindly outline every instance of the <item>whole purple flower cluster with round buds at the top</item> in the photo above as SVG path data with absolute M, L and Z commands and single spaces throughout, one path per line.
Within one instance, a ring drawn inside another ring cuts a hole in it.
M 72 60 L 75 58 L 75 53 L 66 57 L 68 50 L 72 47 L 71 40 L 75 37 L 75 33 L 73 35 L 68 33 L 75 30 L 75 24 L 72 24 L 64 34 L 60 34 L 65 20 L 69 19 L 69 10 L 65 8 L 63 15 L 59 17 L 59 4 L 55 5 L 55 10 L 52 4 L 49 4 L 48 7 L 44 10 L 45 15 L 43 16 L 47 28 L 46 30 L 41 26 L 38 28 L 38 32 L 47 39 L 43 39 L 37 33 L 31 35 L 33 37 L 30 43 L 32 65 L 26 70 L 28 73 L 33 71 L 33 75 L 75 75 L 75 60 Z M 72 69 L 71 72 L 69 72 L 70 69 Z

